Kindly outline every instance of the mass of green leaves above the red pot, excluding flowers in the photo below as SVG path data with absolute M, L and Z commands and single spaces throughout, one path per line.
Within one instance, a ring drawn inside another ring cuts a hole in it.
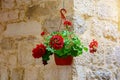
M 60 50 L 56 50 L 52 47 L 50 47 L 50 38 L 53 35 L 61 35 L 64 38 L 64 46 Z M 45 38 L 44 42 L 46 46 L 46 56 L 43 57 L 43 59 L 48 60 L 51 53 L 56 54 L 58 57 L 66 57 L 68 55 L 71 56 L 79 56 L 83 53 L 83 50 L 88 51 L 87 47 L 84 47 L 84 45 L 81 43 L 81 40 L 73 33 L 69 32 L 67 30 L 60 31 L 60 32 L 52 32 L 49 36 Z

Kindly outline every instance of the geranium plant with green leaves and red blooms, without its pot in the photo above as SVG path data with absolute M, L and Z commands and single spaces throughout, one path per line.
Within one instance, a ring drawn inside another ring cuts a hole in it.
M 47 36 L 45 32 L 41 35 L 45 37 L 44 43 L 41 43 L 32 50 L 34 58 L 42 57 L 43 64 L 46 65 L 50 60 L 50 55 L 55 54 L 59 58 L 66 58 L 67 56 L 76 57 L 87 51 L 88 48 L 83 45 L 81 40 L 69 27 L 72 23 L 69 20 L 64 20 L 63 25 L 65 30 L 52 32 Z

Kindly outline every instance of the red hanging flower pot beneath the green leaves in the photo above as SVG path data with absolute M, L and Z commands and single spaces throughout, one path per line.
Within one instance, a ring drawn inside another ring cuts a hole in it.
M 67 56 L 66 58 L 60 58 L 54 55 L 56 65 L 71 65 L 73 61 L 72 56 Z

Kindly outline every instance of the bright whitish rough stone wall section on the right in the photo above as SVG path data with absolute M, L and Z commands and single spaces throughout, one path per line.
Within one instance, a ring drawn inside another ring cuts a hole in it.
M 74 59 L 73 80 L 120 80 L 120 34 L 117 0 L 74 0 L 75 32 L 86 45 L 99 43 L 95 54 Z

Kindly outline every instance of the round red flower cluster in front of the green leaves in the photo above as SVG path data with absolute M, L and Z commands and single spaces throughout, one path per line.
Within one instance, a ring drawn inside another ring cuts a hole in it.
M 60 35 L 52 36 L 52 38 L 50 39 L 50 45 L 51 45 L 51 47 L 53 47 L 56 50 L 61 49 L 64 45 L 62 36 L 60 36 Z

